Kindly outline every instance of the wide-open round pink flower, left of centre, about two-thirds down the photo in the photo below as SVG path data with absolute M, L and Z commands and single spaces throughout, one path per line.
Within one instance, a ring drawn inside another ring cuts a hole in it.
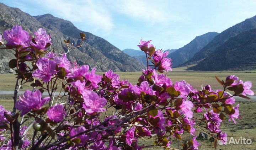
M 83 108 L 86 113 L 94 115 L 106 111 L 105 106 L 107 100 L 104 97 L 100 97 L 97 93 L 92 92 L 87 98 L 84 98 Z

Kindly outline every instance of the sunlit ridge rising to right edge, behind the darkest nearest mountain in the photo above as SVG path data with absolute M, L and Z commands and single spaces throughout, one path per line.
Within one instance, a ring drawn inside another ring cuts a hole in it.
M 198 53 L 194 55 L 193 58 L 182 64 L 181 66 L 185 66 L 188 64 L 194 64 L 194 62 L 198 62 L 207 56 L 209 56 L 212 52 L 214 52 L 220 45 L 224 42 L 228 41 L 229 38 L 238 35 L 247 30 L 251 30 L 256 28 L 256 16 L 252 18 L 248 18 L 243 22 L 236 24 L 233 27 L 230 27 L 216 36 L 211 42 L 209 42 L 204 48 L 202 48 Z

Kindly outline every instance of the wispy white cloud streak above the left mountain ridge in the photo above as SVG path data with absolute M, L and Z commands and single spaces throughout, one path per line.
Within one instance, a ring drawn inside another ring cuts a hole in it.
M 34 0 L 33 3 L 56 17 L 92 27 L 94 32 L 110 32 L 114 27 L 110 13 L 94 0 Z

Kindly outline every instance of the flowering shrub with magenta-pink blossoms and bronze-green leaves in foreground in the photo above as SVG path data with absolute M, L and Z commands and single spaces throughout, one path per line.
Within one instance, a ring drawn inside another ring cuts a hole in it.
M 194 89 L 184 80 L 173 83 L 162 74 L 172 70 L 168 52 L 155 50 L 151 41 L 140 41 L 138 46 L 153 65 L 132 85 L 112 70 L 97 75 L 95 68 L 89 71 L 88 65 L 68 60 L 66 54 L 86 40 L 84 33 L 77 46 L 64 40 L 68 48 L 64 54 L 50 52 L 51 39 L 42 28 L 30 36 L 15 26 L 3 38 L 7 43 L 1 49 L 15 51 L 16 59 L 9 66 L 16 69 L 17 84 L 13 111 L 0 105 L 0 150 L 140 150 L 144 147 L 140 138 L 154 138 L 153 146 L 173 149 L 172 140 L 182 139 L 185 132 L 192 138 L 183 143 L 183 149 L 197 150 L 196 128 L 213 136 L 216 148 L 217 140 L 227 136 L 220 128 L 222 120 L 229 117 L 236 123 L 239 118 L 234 96 L 254 95 L 252 83 L 234 75 L 226 80 L 216 77 L 223 86 L 216 91 L 210 85 Z M 2 44 L 1 36 L 0 40 Z M 27 82 L 32 90 L 17 98 Z

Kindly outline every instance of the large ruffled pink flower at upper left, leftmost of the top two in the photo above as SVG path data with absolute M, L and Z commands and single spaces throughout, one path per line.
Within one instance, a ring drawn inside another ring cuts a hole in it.
M 7 41 L 7 46 L 29 46 L 30 36 L 21 26 L 14 26 L 11 30 L 5 31 L 3 37 Z

